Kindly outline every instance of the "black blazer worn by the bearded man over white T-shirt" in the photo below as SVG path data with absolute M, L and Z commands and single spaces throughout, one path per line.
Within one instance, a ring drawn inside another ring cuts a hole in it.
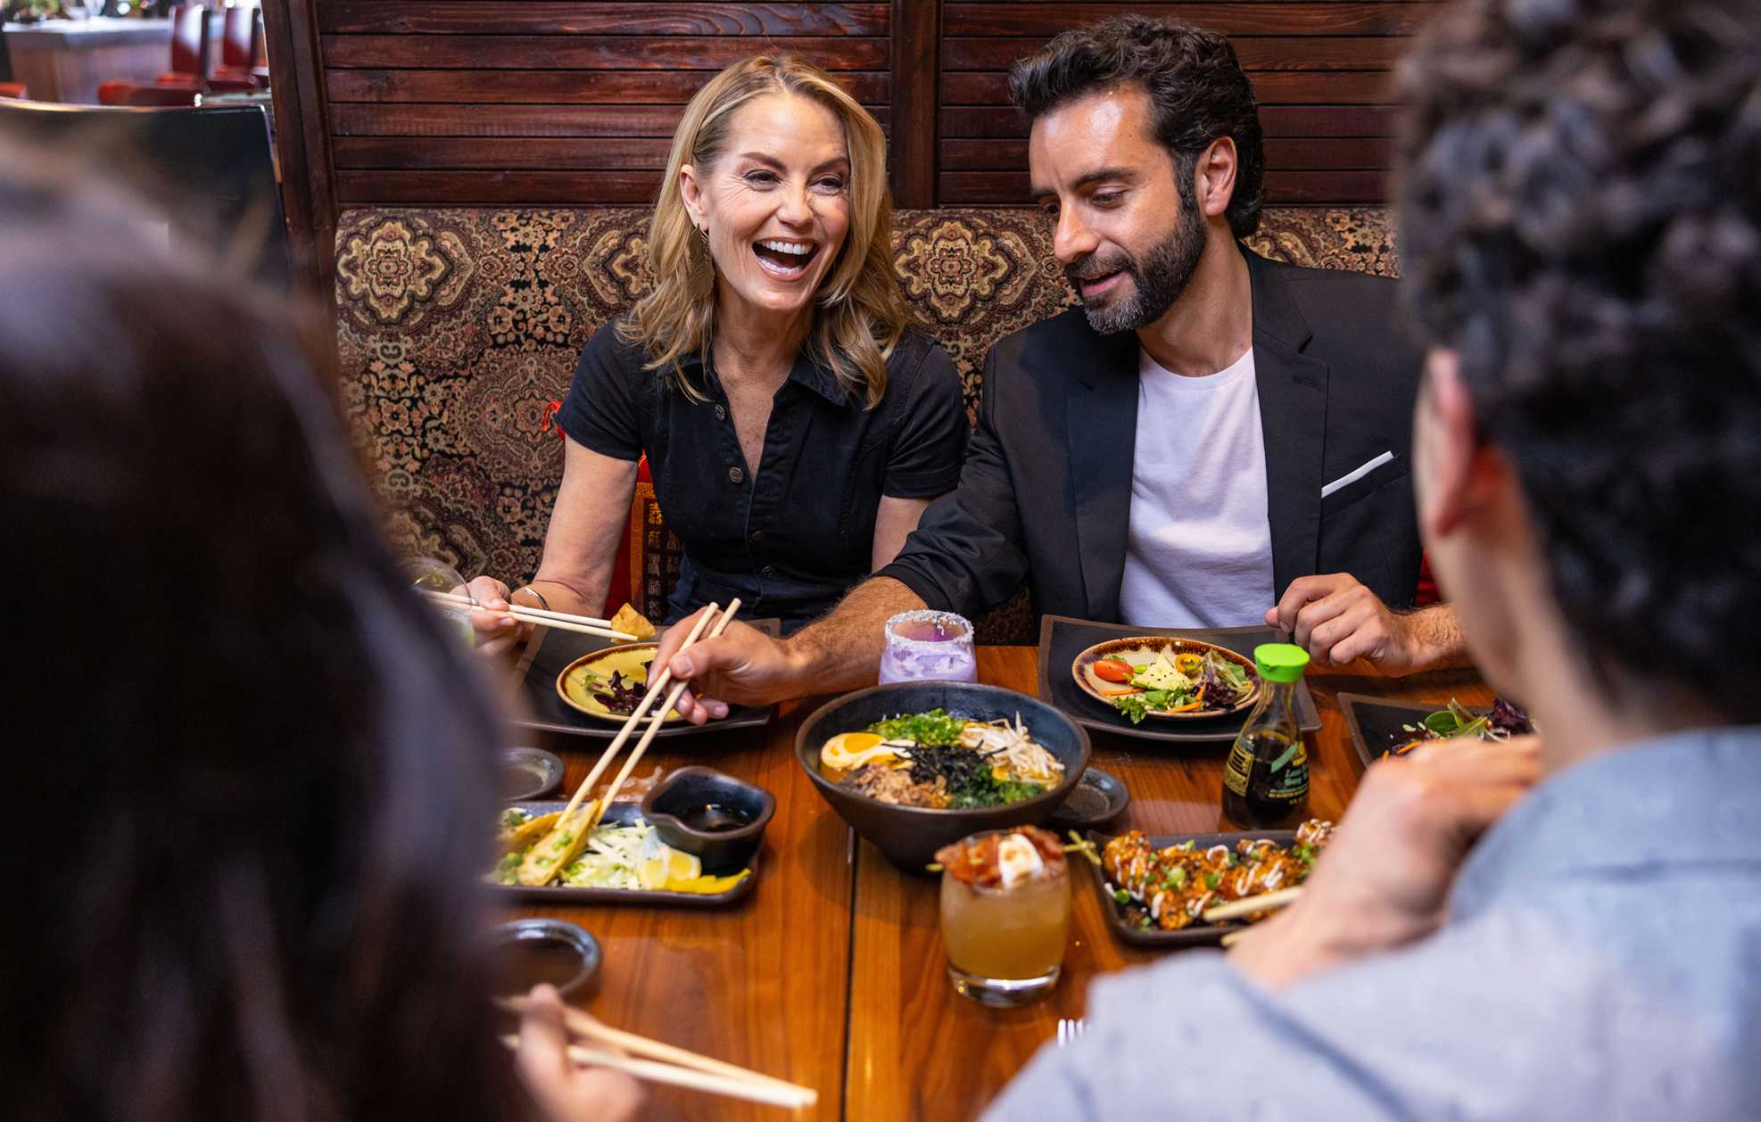
M 1243 255 L 1277 594 L 1298 576 L 1351 572 L 1409 606 L 1421 354 L 1396 326 L 1396 282 Z M 1035 611 L 1116 620 L 1136 432 L 1134 331 L 1097 335 L 1081 308 L 1016 331 L 984 361 L 960 486 L 880 574 L 969 616 L 1027 579 Z M 1321 497 L 1382 453 L 1393 460 Z

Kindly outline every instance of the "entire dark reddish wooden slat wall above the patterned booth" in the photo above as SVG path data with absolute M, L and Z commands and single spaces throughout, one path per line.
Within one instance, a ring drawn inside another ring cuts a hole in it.
M 1416 0 L 262 0 L 296 250 L 336 211 L 653 197 L 680 109 L 759 51 L 803 55 L 891 136 L 900 206 L 1027 201 L 1011 62 L 1116 12 L 1226 32 L 1254 76 L 1270 203 L 1381 203 L 1389 69 Z

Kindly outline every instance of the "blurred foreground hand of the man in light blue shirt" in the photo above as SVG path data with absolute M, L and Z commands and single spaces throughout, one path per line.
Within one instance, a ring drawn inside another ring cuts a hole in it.
M 1442 926 L 1474 842 L 1541 779 L 1541 738 L 1440 740 L 1363 775 L 1303 895 L 1249 928 L 1231 962 L 1280 986 Z

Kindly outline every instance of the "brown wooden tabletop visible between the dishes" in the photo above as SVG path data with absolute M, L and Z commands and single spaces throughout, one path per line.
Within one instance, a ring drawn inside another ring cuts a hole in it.
M 979 650 L 979 680 L 1035 692 L 1035 650 Z M 1323 727 L 1310 738 L 1310 812 L 1338 817 L 1361 764 L 1335 698 L 1342 690 L 1442 705 L 1486 705 L 1470 671 L 1407 680 L 1310 675 Z M 634 907 L 521 909 L 593 932 L 606 951 L 602 981 L 578 999 L 597 1016 L 685 1048 L 819 1089 L 799 1118 L 851 1122 L 976 1117 L 1053 1037 L 1081 1016 L 1088 981 L 1159 955 L 1113 941 L 1087 879 L 1076 882 L 1064 981 L 1025 1009 L 988 1009 L 953 992 L 937 925 L 937 881 L 893 868 L 856 842 L 794 763 L 794 733 L 824 699 L 782 706 L 764 729 L 726 738 L 655 742 L 669 770 L 704 763 L 777 794 L 757 889 L 731 911 Z M 553 736 L 572 789 L 595 759 L 585 742 Z M 1125 780 L 1131 807 L 1118 830 L 1201 833 L 1220 824 L 1227 745 L 1148 745 L 1094 734 L 1094 763 Z M 643 768 L 646 771 L 646 766 Z M 777 1118 L 745 1106 L 652 1089 L 648 1118 Z

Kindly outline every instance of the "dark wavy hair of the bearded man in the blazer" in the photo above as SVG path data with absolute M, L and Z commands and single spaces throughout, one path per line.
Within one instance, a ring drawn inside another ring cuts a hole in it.
M 1138 83 L 1155 106 L 1155 139 L 1175 157 L 1180 197 L 1192 196 L 1192 167 L 1212 141 L 1234 141 L 1234 196 L 1229 229 L 1247 238 L 1259 229 L 1266 194 L 1266 153 L 1234 48 L 1217 32 L 1173 19 L 1115 16 L 1064 32 L 1009 69 L 1009 93 L 1032 122 L 1058 106 Z

